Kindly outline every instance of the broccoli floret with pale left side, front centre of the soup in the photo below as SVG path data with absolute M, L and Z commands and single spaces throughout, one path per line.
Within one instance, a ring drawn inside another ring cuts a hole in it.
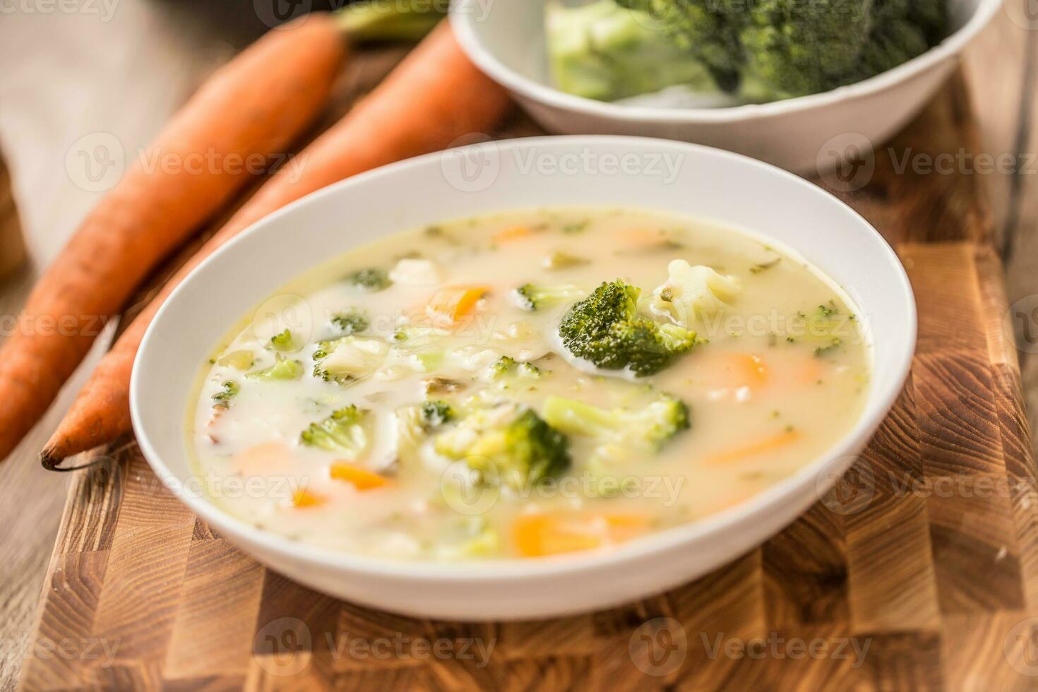
M 465 460 L 514 489 L 528 488 L 570 465 L 569 440 L 531 409 L 503 404 L 480 407 L 440 433 L 434 448 L 448 459 Z

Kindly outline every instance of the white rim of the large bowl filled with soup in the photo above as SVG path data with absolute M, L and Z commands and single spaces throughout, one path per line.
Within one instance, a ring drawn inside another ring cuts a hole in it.
M 885 239 L 857 212 L 847 205 L 839 198 L 830 195 L 822 188 L 790 173 L 771 164 L 764 163 L 757 159 L 740 154 L 734 154 L 716 147 L 678 142 L 674 140 L 635 137 L 621 135 L 571 135 L 571 136 L 545 136 L 525 137 L 510 140 L 500 140 L 495 145 L 502 151 L 509 151 L 517 147 L 594 147 L 609 144 L 638 144 L 639 146 L 652 146 L 678 149 L 692 156 L 720 157 L 723 159 L 734 159 L 738 165 L 762 168 L 768 175 L 785 177 L 788 183 L 800 187 L 807 195 L 823 198 L 826 203 L 836 203 L 847 215 L 847 222 L 863 228 L 867 234 L 871 234 L 876 242 L 877 259 L 884 258 L 894 270 L 897 280 L 897 288 L 901 295 L 900 302 L 904 308 L 904 322 L 899 330 L 904 335 L 900 348 L 896 350 L 893 361 L 894 379 L 889 380 L 886 387 L 878 391 L 878 397 L 871 405 L 866 407 L 854 426 L 848 431 L 844 437 L 831 445 L 828 449 L 818 454 L 809 464 L 805 464 L 795 473 L 787 476 L 778 482 L 768 487 L 764 491 L 753 495 L 746 500 L 731 507 L 710 515 L 701 520 L 687 522 L 678 526 L 670 527 L 654 533 L 639 536 L 636 539 L 611 547 L 608 550 L 585 551 L 558 556 L 537 557 L 537 558 L 502 558 L 496 560 L 481 561 L 474 564 L 470 561 L 459 562 L 437 562 L 433 560 L 395 560 L 386 557 L 370 556 L 361 553 L 350 553 L 322 548 L 311 544 L 292 541 L 280 534 L 260 529 L 248 522 L 239 519 L 216 503 L 193 493 L 184 491 L 184 485 L 177 480 L 177 475 L 163 462 L 156 445 L 148 435 L 152 423 L 148 422 L 144 409 L 148 397 L 142 391 L 140 370 L 144 360 L 153 358 L 152 352 L 161 353 L 169 351 L 168 344 L 163 344 L 158 340 L 156 333 L 159 326 L 163 324 L 171 306 L 181 299 L 187 287 L 204 276 L 207 269 L 224 254 L 237 252 L 237 248 L 246 240 L 253 236 L 261 228 L 269 227 L 280 223 L 283 217 L 291 216 L 295 211 L 303 205 L 313 203 L 316 200 L 340 194 L 343 190 L 353 187 L 360 187 L 375 184 L 378 181 L 391 178 L 397 173 L 424 166 L 435 167 L 439 170 L 442 151 L 435 151 L 424 156 L 407 159 L 398 163 L 382 166 L 372 171 L 358 174 L 354 177 L 340 181 L 336 184 L 318 190 L 305 197 L 298 199 L 273 214 L 256 221 L 251 226 L 240 232 L 222 247 L 216 250 L 196 267 L 187 278 L 173 289 L 167 300 L 160 307 L 152 324 L 141 340 L 137 356 L 134 359 L 133 370 L 130 382 L 130 411 L 133 421 L 134 433 L 144 459 L 155 471 L 159 479 L 169 489 L 169 491 L 196 516 L 201 517 L 208 523 L 216 527 L 224 534 L 241 541 L 246 546 L 262 545 L 268 553 L 277 554 L 279 557 L 294 560 L 302 564 L 329 568 L 333 570 L 354 572 L 370 577 L 390 578 L 405 581 L 420 581 L 427 583 L 440 584 L 462 584 L 462 583 L 489 583 L 508 581 L 516 578 L 547 578 L 561 575 L 571 575 L 574 573 L 590 572 L 608 566 L 616 566 L 622 563 L 636 561 L 646 557 L 663 554 L 667 551 L 692 545 L 698 541 L 708 539 L 711 534 L 726 530 L 737 530 L 745 523 L 760 520 L 769 514 L 781 511 L 783 506 L 796 501 L 798 495 L 802 494 L 807 486 L 814 488 L 815 499 L 819 499 L 821 494 L 835 485 L 837 478 L 846 471 L 852 464 L 857 452 L 871 439 L 880 422 L 886 417 L 895 400 L 900 394 L 903 384 L 908 377 L 916 348 L 917 337 L 917 307 L 914 295 L 908 275 L 904 270 L 900 259 L 894 249 Z M 464 149 L 476 149 L 484 144 L 471 144 Z M 273 238 L 273 236 L 270 236 Z M 789 244 L 794 250 L 799 249 Z M 344 250 L 345 251 L 345 250 Z M 316 262 L 317 266 L 320 262 Z M 871 339 L 870 339 L 871 340 Z M 200 361 L 199 361 L 200 362 Z M 873 383 L 873 386 L 876 386 Z M 822 474 L 825 473 L 824 479 Z M 797 516 L 802 514 L 807 507 L 797 511 Z M 784 528 L 784 523 L 781 528 Z M 781 530 L 777 529 L 777 530 Z M 734 557 L 734 556 L 733 556 Z

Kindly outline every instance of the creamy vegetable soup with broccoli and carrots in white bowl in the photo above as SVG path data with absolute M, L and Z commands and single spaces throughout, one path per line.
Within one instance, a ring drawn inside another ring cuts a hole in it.
M 636 210 L 399 233 L 302 277 L 204 365 L 213 501 L 403 559 L 608 549 L 729 507 L 857 419 L 862 319 L 801 258 Z

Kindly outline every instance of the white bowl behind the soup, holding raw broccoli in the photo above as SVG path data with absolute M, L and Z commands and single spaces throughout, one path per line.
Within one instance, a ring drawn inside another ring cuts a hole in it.
M 696 142 L 798 173 L 828 170 L 849 151 L 878 146 L 901 129 L 1002 6 L 1000 0 L 950 0 L 952 35 L 923 55 L 856 84 L 770 104 L 667 109 L 593 101 L 552 87 L 544 2 L 459 0 L 452 4 L 450 20 L 472 61 L 504 85 L 546 130 Z

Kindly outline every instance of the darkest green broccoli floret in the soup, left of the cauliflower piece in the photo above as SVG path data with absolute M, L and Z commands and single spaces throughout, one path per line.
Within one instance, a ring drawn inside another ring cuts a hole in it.
M 695 332 L 637 315 L 639 290 L 617 280 L 574 305 L 558 335 L 570 353 L 595 365 L 653 375 L 695 345 Z

